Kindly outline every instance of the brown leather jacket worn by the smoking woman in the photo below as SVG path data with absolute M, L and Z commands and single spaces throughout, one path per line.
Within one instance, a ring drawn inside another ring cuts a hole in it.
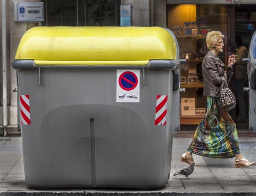
M 219 97 L 222 78 L 229 83 L 233 75 L 233 69 L 227 67 L 225 71 L 224 63 L 210 51 L 203 58 L 202 71 L 203 96 Z

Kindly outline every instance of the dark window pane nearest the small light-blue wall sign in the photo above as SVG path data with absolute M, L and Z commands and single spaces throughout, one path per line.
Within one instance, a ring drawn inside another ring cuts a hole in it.
M 87 0 L 86 26 L 119 26 L 120 0 Z

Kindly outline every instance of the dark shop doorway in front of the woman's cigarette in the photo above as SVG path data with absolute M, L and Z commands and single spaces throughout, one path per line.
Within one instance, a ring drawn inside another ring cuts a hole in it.
M 243 91 L 243 87 L 248 87 L 248 75 L 246 72 L 247 63 L 242 62 L 242 58 L 247 58 L 251 38 L 256 31 L 256 5 L 235 5 L 231 13 L 235 27 L 230 32 L 231 51 L 238 54 L 233 75 L 233 90 L 235 90 L 237 107 L 235 109 L 235 120 L 240 131 L 249 130 L 249 94 Z M 232 28 L 231 28 L 232 29 Z

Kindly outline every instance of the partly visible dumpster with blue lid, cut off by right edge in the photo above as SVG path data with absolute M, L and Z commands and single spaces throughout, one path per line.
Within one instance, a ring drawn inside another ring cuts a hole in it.
M 249 129 L 256 133 L 256 32 L 250 42 L 247 62 L 247 73 L 249 81 Z

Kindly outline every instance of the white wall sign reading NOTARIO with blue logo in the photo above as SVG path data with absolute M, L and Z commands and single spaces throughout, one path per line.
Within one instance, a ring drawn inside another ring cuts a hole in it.
M 14 2 L 14 21 L 43 21 L 43 2 Z

